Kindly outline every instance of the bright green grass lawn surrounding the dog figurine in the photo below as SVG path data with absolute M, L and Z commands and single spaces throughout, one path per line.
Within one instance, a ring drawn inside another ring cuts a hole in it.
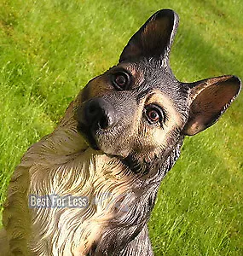
M 164 8 L 181 18 L 171 53 L 177 79 L 243 78 L 240 0 L 0 2 L 0 201 L 26 148 Z M 150 221 L 155 255 L 243 255 L 242 107 L 241 94 L 217 125 L 185 140 Z

